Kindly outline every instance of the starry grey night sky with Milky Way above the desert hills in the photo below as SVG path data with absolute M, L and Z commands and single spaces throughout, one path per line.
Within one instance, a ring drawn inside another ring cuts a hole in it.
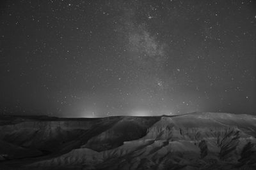
M 256 114 L 256 1 L 1 1 L 0 111 Z

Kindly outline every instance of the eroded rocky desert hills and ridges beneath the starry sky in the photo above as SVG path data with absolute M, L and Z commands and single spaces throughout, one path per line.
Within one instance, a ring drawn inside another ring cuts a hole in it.
M 0 117 L 0 169 L 256 169 L 256 117 Z

